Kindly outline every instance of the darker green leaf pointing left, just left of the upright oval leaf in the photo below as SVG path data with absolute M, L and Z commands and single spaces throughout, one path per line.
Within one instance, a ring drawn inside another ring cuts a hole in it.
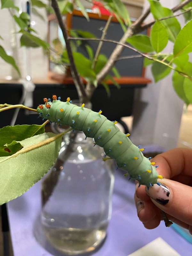
M 136 35 L 136 36 L 127 38 L 126 41 L 141 52 L 154 51 L 153 47 L 151 46 L 150 38 L 148 36 Z

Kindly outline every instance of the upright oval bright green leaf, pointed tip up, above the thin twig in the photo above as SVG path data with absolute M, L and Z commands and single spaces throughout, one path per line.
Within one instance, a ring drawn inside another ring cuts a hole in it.
M 161 52 L 168 43 L 168 33 L 160 21 L 156 21 L 150 33 L 150 41 L 153 49 L 158 53 Z

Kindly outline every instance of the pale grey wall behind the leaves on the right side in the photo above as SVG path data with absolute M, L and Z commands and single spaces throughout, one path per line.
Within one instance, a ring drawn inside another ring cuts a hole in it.
M 172 8 L 179 4 L 179 0 L 162 0 L 161 4 Z M 145 1 L 145 9 L 148 1 Z M 148 17 L 146 21 L 152 19 Z M 180 16 L 178 20 L 181 26 L 184 20 Z M 169 43 L 164 52 L 172 52 L 172 44 Z M 153 82 L 151 68 L 146 68 L 147 78 L 152 80 L 147 88 L 137 92 L 134 107 L 132 141 L 136 145 L 157 144 L 166 149 L 175 148 L 180 129 L 180 121 L 183 110 L 183 102 L 176 95 L 172 87 L 172 73 L 159 82 Z

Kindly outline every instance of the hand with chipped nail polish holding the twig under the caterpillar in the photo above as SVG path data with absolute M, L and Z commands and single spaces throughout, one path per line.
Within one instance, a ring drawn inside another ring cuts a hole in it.
M 161 210 L 169 220 L 187 228 L 192 234 L 192 149 L 175 148 L 153 158 L 160 186 L 136 183 L 134 195 L 137 214 L 145 228 L 156 228 L 162 220 Z

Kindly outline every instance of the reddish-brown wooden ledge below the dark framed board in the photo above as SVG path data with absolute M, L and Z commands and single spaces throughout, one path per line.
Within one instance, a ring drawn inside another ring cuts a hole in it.
M 72 77 L 64 76 L 60 74 L 56 74 L 54 72 L 49 71 L 48 74 L 49 79 L 56 80 L 57 82 L 61 84 L 74 84 Z M 145 77 L 140 76 L 121 76 L 120 78 L 113 77 L 113 79 L 118 84 L 149 84 L 151 83 L 151 80 Z M 84 78 L 82 78 L 84 84 L 86 84 L 86 81 Z M 107 84 L 113 84 L 111 80 L 107 81 Z

